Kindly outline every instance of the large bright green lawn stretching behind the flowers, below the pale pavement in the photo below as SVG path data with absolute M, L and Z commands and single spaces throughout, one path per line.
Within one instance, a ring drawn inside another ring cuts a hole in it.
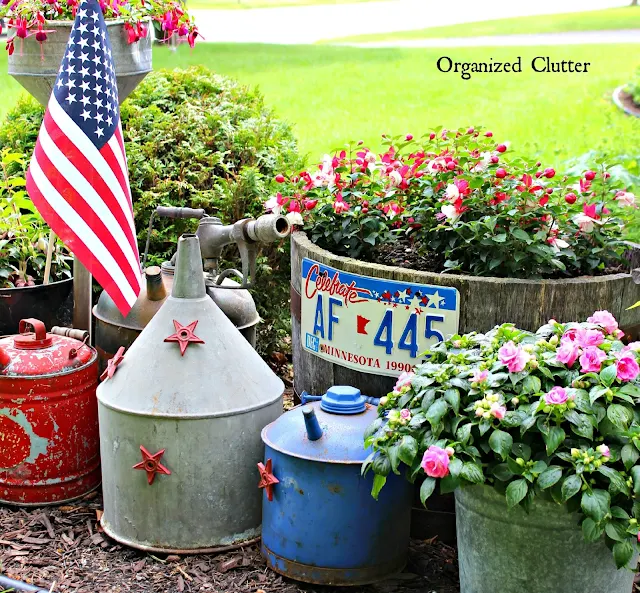
M 588 74 L 531 71 L 531 59 L 585 60 Z M 522 74 L 443 74 L 436 61 L 522 57 Z M 0 115 L 15 100 L 0 51 Z M 640 122 L 619 112 L 613 88 L 638 66 L 637 46 L 553 48 L 354 49 L 330 46 L 200 44 L 157 49 L 154 65 L 204 64 L 259 85 L 269 105 L 291 122 L 301 149 L 315 160 L 348 140 L 376 146 L 380 134 L 421 134 L 430 127 L 482 125 L 514 149 L 548 165 L 593 148 L 640 153 Z

